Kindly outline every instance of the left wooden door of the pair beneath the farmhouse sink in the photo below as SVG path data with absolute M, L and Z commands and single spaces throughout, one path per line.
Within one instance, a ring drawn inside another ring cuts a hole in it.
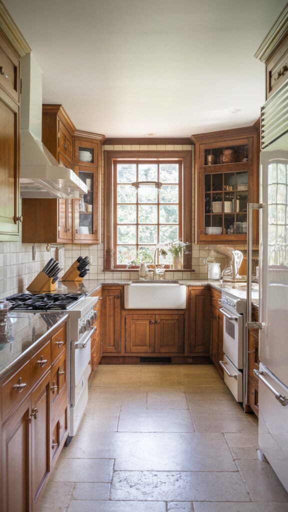
M 125 316 L 126 352 L 155 352 L 155 315 L 128 314 Z

